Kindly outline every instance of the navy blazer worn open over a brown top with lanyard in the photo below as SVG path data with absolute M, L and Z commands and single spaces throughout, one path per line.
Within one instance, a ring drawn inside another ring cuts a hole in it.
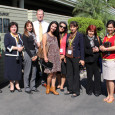
M 68 47 L 68 38 L 70 34 L 67 35 L 67 40 L 66 40 L 66 50 Z M 76 37 L 73 40 L 73 57 L 75 58 L 80 58 L 80 60 L 84 60 L 84 39 L 83 39 L 83 34 L 80 32 L 76 33 Z

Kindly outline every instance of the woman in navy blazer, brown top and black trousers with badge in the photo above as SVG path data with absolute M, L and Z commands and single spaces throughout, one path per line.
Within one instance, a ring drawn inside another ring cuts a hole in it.
M 66 43 L 66 79 L 68 82 L 68 91 L 65 95 L 72 94 L 71 97 L 73 98 L 80 95 L 79 63 L 84 66 L 83 35 L 77 29 L 77 22 L 70 22 L 71 33 L 68 34 Z

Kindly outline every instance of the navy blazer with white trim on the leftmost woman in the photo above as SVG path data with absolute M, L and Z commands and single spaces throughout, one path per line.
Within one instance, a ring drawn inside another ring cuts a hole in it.
M 23 41 L 21 39 L 21 34 L 18 33 L 19 36 L 19 44 L 23 45 Z M 4 36 L 4 46 L 5 46 L 5 55 L 6 56 L 19 56 L 19 52 L 17 50 L 12 50 L 13 46 L 17 46 L 16 37 L 12 36 L 11 33 L 6 33 Z

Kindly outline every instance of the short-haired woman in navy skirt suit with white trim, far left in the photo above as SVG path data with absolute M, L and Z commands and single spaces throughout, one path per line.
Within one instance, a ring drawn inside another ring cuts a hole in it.
M 23 42 L 18 32 L 18 24 L 11 22 L 8 27 L 9 33 L 5 34 L 5 78 L 10 81 L 10 92 L 14 92 L 15 87 L 22 92 L 19 80 L 22 77 L 22 56 Z

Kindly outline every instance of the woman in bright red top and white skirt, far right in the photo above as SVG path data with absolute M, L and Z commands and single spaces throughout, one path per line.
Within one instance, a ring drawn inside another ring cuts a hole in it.
M 106 25 L 107 35 L 104 37 L 100 50 L 103 52 L 103 78 L 106 80 L 107 103 L 114 101 L 115 80 L 115 21 L 109 20 Z

